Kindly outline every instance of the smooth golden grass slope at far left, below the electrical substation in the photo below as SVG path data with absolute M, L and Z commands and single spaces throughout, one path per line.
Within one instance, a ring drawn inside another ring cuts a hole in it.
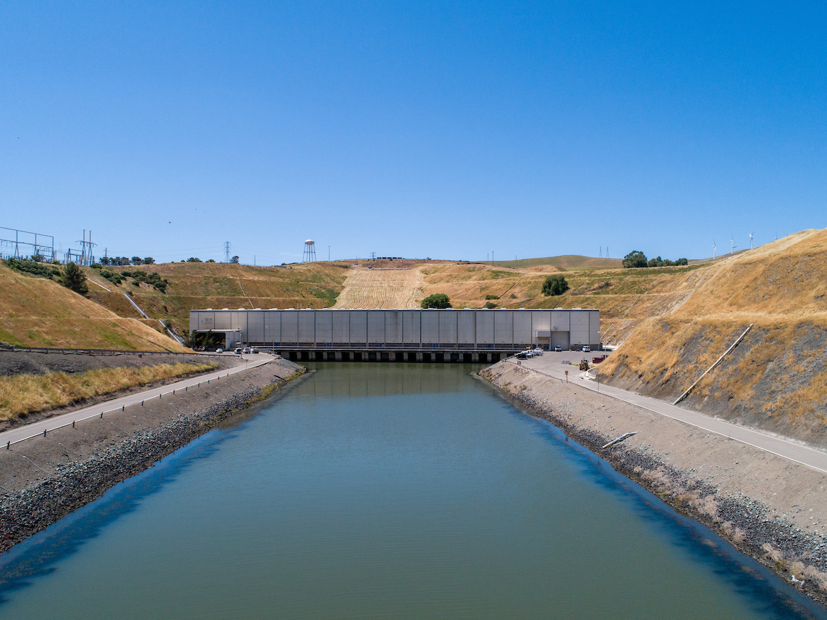
M 4 263 L 0 263 L 0 342 L 73 349 L 185 351 L 135 319 L 119 317 L 52 280 L 19 274 Z

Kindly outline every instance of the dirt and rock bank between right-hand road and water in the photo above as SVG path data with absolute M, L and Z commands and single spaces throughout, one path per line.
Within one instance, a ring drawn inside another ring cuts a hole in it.
M 827 475 L 507 361 L 480 375 L 619 473 L 827 603 Z M 601 448 L 625 432 L 637 434 Z

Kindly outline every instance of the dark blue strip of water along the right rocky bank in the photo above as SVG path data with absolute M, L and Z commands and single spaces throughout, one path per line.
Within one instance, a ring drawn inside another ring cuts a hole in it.
M 538 436 L 548 441 L 554 449 L 565 451 L 567 460 L 578 468 L 584 478 L 621 498 L 644 522 L 666 532 L 672 545 L 688 551 L 694 560 L 750 599 L 759 611 L 777 618 L 827 620 L 827 608 L 787 584 L 758 560 L 738 551 L 703 523 L 678 513 L 657 495 L 619 474 L 607 460 L 585 446 L 571 438 L 566 441 L 566 433 L 551 422 L 535 417 L 498 391 L 493 391 L 509 404 L 515 416 L 536 425 L 534 432 Z

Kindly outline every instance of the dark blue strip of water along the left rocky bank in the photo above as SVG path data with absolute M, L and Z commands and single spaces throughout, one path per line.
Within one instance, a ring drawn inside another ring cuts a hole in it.
M 155 466 L 116 484 L 102 497 L 60 519 L 0 556 L 0 605 L 7 594 L 56 570 L 60 560 L 78 551 L 118 518 L 136 510 L 141 500 L 174 481 L 196 461 L 207 459 L 230 435 L 208 432 L 155 463 Z

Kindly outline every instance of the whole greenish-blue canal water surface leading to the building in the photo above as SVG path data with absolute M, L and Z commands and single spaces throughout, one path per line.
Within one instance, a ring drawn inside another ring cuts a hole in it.
M 0 617 L 825 617 L 475 367 L 311 366 L 0 556 Z

